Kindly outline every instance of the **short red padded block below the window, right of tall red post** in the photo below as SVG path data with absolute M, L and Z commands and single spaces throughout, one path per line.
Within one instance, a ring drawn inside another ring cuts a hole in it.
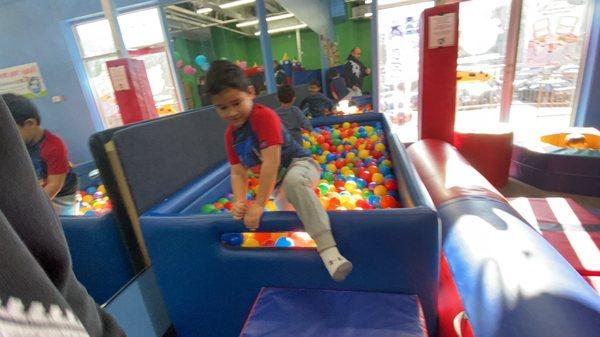
M 511 131 L 454 132 L 454 146 L 494 187 L 508 182 L 512 155 Z

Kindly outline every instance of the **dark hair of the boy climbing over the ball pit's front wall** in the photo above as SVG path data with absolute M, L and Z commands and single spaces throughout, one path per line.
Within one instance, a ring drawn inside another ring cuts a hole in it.
M 206 74 L 206 92 L 217 95 L 225 89 L 248 90 L 248 79 L 242 68 L 235 64 L 219 60 L 210 65 Z

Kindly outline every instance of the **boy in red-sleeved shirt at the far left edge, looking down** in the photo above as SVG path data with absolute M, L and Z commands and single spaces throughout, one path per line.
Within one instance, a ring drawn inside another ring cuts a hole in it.
M 40 185 L 52 200 L 59 215 L 77 215 L 77 175 L 71 170 L 67 146 L 60 137 L 40 126 L 40 114 L 23 96 L 4 94 L 21 138 L 27 146 Z

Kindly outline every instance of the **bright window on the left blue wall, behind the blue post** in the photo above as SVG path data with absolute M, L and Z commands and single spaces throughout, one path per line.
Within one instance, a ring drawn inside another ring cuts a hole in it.
M 158 9 L 121 14 L 118 21 L 129 56 L 144 61 L 159 114 L 181 111 Z M 102 122 L 106 128 L 120 126 L 123 122 L 106 68 L 107 61 L 118 58 L 108 20 L 73 28 Z

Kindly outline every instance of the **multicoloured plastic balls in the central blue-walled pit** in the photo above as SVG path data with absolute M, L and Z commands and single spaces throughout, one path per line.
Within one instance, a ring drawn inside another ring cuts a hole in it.
M 304 148 L 322 168 L 321 180 L 314 189 L 323 208 L 329 211 L 372 210 L 401 207 L 398 184 L 392 173 L 392 162 L 385 145 L 381 123 L 358 125 L 345 122 L 331 127 L 318 127 L 304 132 Z M 258 190 L 258 175 L 248 171 L 250 202 Z M 202 214 L 227 213 L 232 207 L 230 193 L 201 207 Z M 265 211 L 276 211 L 273 200 Z M 313 248 L 314 241 L 305 232 L 226 233 L 221 241 L 243 248 Z

